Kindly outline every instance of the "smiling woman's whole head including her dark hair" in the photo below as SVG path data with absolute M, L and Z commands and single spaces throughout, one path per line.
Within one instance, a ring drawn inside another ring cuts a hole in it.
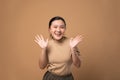
M 64 36 L 65 30 L 66 22 L 62 17 L 56 16 L 50 20 L 49 32 L 55 40 L 60 40 Z

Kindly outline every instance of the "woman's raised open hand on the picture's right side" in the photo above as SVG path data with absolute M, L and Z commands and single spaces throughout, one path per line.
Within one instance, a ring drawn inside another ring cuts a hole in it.
M 71 38 L 70 39 L 70 47 L 74 48 L 75 46 L 77 46 L 79 44 L 79 42 L 82 41 L 82 35 L 78 35 L 75 38 Z

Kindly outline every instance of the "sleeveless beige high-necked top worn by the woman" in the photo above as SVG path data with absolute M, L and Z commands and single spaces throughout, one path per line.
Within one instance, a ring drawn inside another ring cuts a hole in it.
M 69 42 L 68 38 L 63 38 L 61 41 L 49 40 L 47 48 L 48 71 L 57 75 L 71 73 L 72 58 Z

